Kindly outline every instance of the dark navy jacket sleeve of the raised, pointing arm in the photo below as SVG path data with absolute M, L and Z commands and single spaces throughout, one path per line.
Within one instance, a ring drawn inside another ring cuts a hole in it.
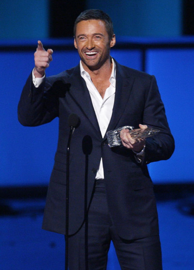
M 18 120 L 23 126 L 39 126 L 58 116 L 59 99 L 49 81 L 44 79 L 38 88 L 32 82 L 32 74 L 26 81 L 18 103 Z

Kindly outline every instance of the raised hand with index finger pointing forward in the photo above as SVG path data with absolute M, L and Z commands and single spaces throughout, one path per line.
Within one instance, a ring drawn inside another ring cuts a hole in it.
M 33 70 L 33 74 L 35 78 L 42 78 L 45 74 L 45 69 L 49 67 L 50 61 L 52 61 L 52 49 L 48 49 L 47 51 L 43 48 L 43 44 L 40 40 L 38 40 L 38 47 L 34 52 L 34 63 L 35 68 Z

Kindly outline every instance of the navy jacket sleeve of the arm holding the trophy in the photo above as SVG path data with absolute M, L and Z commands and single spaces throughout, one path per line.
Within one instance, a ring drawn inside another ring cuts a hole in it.
M 145 94 L 143 115 L 143 124 L 148 127 L 159 128 L 160 133 L 146 138 L 145 156 L 142 165 L 169 159 L 174 152 L 175 142 L 168 126 L 164 105 L 154 76 L 151 77 L 150 87 Z

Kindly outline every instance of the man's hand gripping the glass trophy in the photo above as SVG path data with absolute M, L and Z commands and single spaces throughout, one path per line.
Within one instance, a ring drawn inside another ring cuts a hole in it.
M 139 125 L 140 128 L 146 129 L 146 125 Z M 133 150 L 134 152 L 141 152 L 144 148 L 146 140 L 144 139 L 133 139 L 130 136 L 129 129 L 122 129 L 120 133 L 120 138 L 123 146 L 126 148 Z

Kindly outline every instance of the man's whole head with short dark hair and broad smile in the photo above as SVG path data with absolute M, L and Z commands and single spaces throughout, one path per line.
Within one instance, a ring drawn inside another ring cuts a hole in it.
M 110 48 L 115 44 L 113 24 L 100 10 L 88 10 L 75 22 L 74 46 L 78 49 L 84 69 L 110 67 Z

